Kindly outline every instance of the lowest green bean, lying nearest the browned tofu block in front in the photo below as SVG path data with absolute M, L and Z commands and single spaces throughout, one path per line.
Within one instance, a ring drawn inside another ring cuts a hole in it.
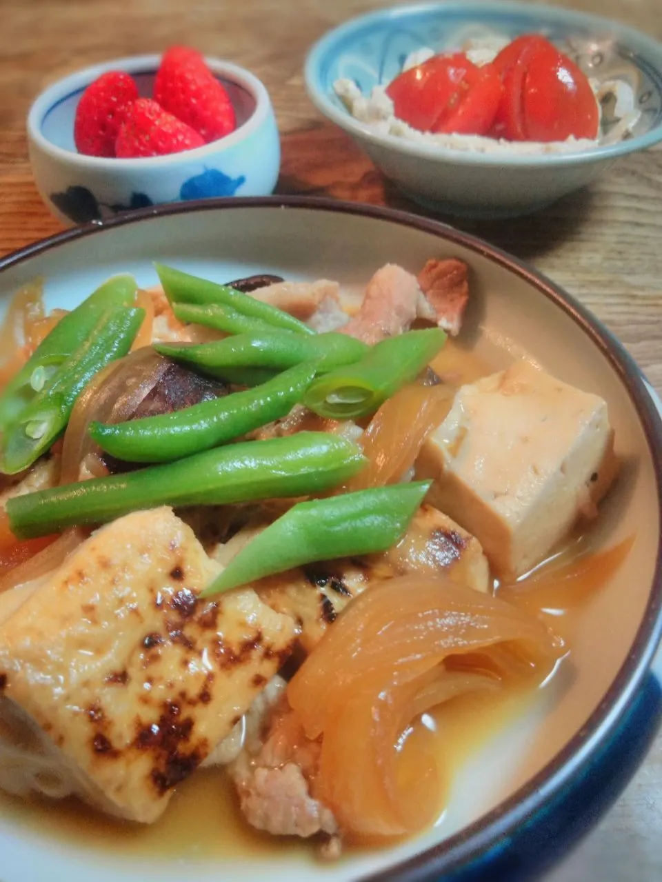
M 294 505 L 244 546 L 202 596 L 314 561 L 385 551 L 402 538 L 431 483 L 391 484 Z

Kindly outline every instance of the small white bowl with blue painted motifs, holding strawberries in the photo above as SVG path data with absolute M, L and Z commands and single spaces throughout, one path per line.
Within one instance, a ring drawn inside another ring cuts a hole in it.
M 73 123 L 81 94 L 107 71 L 126 71 L 151 97 L 160 56 L 118 58 L 58 80 L 34 101 L 27 135 L 41 198 L 65 223 L 102 221 L 164 203 L 224 196 L 265 196 L 279 176 L 280 144 L 269 94 L 236 64 L 207 58 L 226 86 L 237 128 L 226 138 L 184 153 L 145 159 L 104 159 L 78 153 Z

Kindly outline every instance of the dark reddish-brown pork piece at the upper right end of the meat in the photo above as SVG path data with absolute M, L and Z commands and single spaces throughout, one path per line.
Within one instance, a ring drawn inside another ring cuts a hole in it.
M 462 260 L 428 260 L 418 277 L 426 300 L 420 308 L 419 318 L 434 321 L 451 337 L 457 337 L 469 302 L 468 273 L 469 269 Z

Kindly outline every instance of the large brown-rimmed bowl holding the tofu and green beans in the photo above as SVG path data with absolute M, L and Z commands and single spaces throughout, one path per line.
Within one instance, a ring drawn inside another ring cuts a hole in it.
M 582 609 L 570 661 L 461 766 L 441 823 L 413 841 L 323 867 L 302 849 L 265 854 L 235 843 L 219 863 L 205 858 L 198 840 L 220 829 L 189 828 L 178 853 L 163 842 L 158 853 L 131 856 L 128 833 L 102 847 L 87 834 L 72 842 L 54 835 L 44 813 L 0 808 L 3 882 L 339 882 L 445 873 L 463 882 L 517 882 L 567 852 L 606 811 L 641 761 L 662 709 L 650 673 L 662 629 L 662 426 L 635 363 L 569 295 L 487 243 L 432 221 L 270 198 L 152 209 L 37 243 L 0 261 L 0 302 L 42 275 L 48 306 L 71 307 L 109 273 L 128 270 L 143 285 L 155 282 L 154 259 L 215 280 L 266 272 L 358 288 L 386 262 L 416 270 L 451 255 L 472 273 L 464 348 L 494 368 L 524 355 L 609 405 L 624 469 L 603 506 L 598 539 L 610 546 L 634 534 L 636 543 Z

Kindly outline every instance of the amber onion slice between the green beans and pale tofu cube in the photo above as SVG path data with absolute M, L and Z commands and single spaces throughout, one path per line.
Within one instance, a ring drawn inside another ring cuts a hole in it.
M 453 394 L 444 385 L 406 385 L 385 401 L 359 438 L 368 465 L 346 490 L 367 490 L 400 481 L 413 467 L 428 434 L 448 414 Z

